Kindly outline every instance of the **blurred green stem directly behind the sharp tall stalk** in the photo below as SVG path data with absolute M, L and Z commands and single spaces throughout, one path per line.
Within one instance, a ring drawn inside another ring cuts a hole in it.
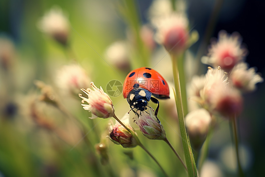
M 187 103 L 187 93 L 186 93 L 186 78 L 184 71 L 184 53 L 178 55 L 177 57 L 177 67 L 179 70 L 179 81 L 180 81 L 180 91 L 183 104 L 184 116 L 188 114 L 188 103 Z

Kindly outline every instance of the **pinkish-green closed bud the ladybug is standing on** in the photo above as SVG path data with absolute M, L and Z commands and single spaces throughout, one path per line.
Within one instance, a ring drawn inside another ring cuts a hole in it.
M 143 135 L 149 139 L 165 140 L 166 133 L 160 120 L 157 116 L 153 115 L 153 110 L 151 108 L 148 108 L 147 112 L 141 112 L 141 115 L 138 116 L 135 123 L 139 126 Z

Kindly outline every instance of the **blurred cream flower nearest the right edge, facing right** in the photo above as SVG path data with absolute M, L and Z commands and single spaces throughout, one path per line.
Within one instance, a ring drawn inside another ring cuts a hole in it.
M 263 82 L 263 78 L 255 73 L 254 68 L 249 68 L 247 63 L 239 63 L 236 65 L 229 75 L 229 79 L 233 86 L 241 91 L 254 91 L 256 83 Z

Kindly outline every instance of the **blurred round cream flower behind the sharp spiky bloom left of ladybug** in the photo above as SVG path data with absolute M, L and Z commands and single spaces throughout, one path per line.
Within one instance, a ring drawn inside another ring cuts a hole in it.
M 80 88 L 88 88 L 89 80 L 86 71 L 77 64 L 64 65 L 55 76 L 55 83 L 64 94 L 77 94 Z

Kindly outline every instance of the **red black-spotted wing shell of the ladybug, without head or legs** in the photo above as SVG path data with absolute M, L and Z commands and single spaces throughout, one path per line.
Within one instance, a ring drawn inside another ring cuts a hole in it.
M 137 68 L 126 76 L 123 84 L 123 97 L 127 98 L 129 92 L 137 87 L 150 91 L 155 97 L 169 98 L 168 84 L 157 71 L 151 68 Z

